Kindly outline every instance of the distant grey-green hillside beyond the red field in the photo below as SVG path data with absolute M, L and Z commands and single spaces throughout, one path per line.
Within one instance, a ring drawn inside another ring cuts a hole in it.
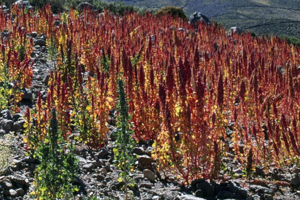
M 107 0 L 114 1 L 114 0 Z M 225 26 L 240 26 L 257 34 L 287 34 L 300 38 L 300 0 L 121 0 L 138 7 L 182 7 L 187 15 L 200 11 Z

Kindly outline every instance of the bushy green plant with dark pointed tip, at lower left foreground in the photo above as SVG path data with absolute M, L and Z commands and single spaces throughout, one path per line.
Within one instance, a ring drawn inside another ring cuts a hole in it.
M 69 199 L 78 188 L 72 185 L 77 171 L 77 160 L 71 153 L 58 129 L 56 111 L 52 117 L 48 133 L 34 154 L 40 164 L 36 173 L 36 195 L 39 199 Z

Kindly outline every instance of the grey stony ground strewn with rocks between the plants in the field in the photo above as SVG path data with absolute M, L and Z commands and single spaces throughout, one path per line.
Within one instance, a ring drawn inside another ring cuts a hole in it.
M 22 112 L 26 106 L 34 108 L 37 92 L 41 91 L 43 99 L 46 97 L 48 74 L 54 67 L 49 58 L 49 47 L 46 46 L 46 36 L 32 32 L 34 48 L 31 53 L 33 65 L 33 85 L 24 90 L 20 104 Z M 118 171 L 113 163 L 112 149 L 115 146 L 113 132 L 115 118 L 111 114 L 109 123 L 109 141 L 105 148 L 90 150 L 86 146 L 76 143 L 74 153 L 79 162 L 79 173 L 75 181 L 79 191 L 74 199 L 88 199 L 97 196 L 98 199 L 124 199 L 120 190 Z M 14 131 L 11 143 L 12 154 L 9 169 L 0 176 L 0 199 L 34 199 L 30 195 L 34 191 L 34 169 L 37 160 L 26 155 L 23 141 L 24 118 L 22 113 L 11 115 L 8 110 L 0 112 L 0 135 Z M 161 177 L 155 168 L 156 163 L 151 158 L 152 147 L 139 144 L 132 152 L 137 155 L 136 167 L 130 176 L 135 181 L 131 188 L 133 199 L 164 199 L 164 200 L 203 200 L 203 199 L 300 199 L 300 169 L 295 166 L 285 170 L 256 167 L 256 174 L 252 180 L 243 177 L 242 168 L 233 154 L 228 152 L 228 158 L 223 162 L 230 167 L 230 171 L 223 169 L 220 175 L 223 180 L 215 182 L 206 179 L 197 179 L 188 186 L 183 186 L 171 178 Z M 231 178 L 225 174 L 231 173 Z

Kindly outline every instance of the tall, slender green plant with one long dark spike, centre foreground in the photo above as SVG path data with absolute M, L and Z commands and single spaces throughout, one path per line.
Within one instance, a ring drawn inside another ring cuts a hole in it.
M 122 172 L 118 178 L 119 182 L 124 182 L 124 190 L 126 199 L 128 199 L 128 186 L 133 186 L 134 182 L 129 177 L 129 173 L 133 170 L 134 155 L 131 150 L 134 146 L 134 139 L 132 138 L 133 130 L 129 123 L 130 116 L 128 115 L 128 105 L 126 95 L 124 92 L 122 80 L 118 81 L 119 87 L 119 104 L 117 117 L 117 132 L 116 132 L 116 147 L 113 148 L 114 163 Z

